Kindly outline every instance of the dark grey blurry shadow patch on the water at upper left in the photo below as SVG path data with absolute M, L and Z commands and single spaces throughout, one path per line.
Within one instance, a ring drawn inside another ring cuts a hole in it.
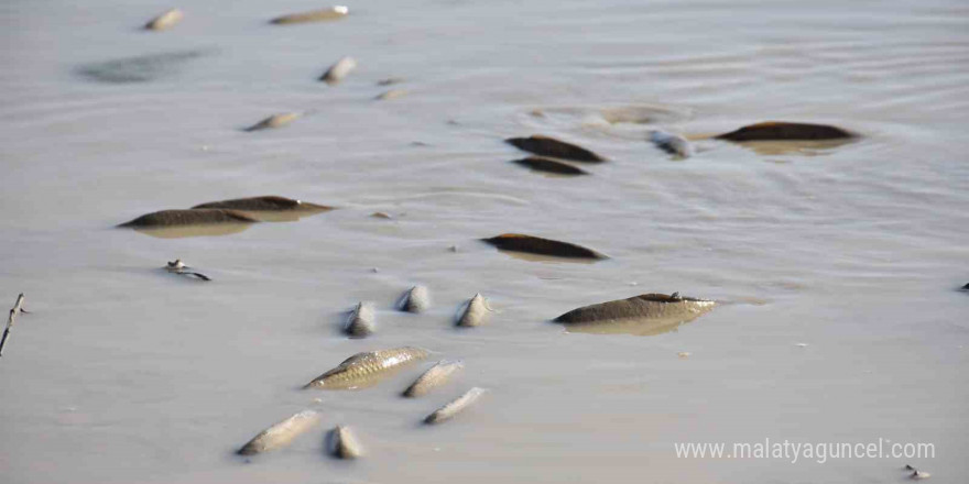
M 76 72 L 98 82 L 149 82 L 175 74 L 183 65 L 208 54 L 206 51 L 181 51 L 139 55 L 81 65 Z

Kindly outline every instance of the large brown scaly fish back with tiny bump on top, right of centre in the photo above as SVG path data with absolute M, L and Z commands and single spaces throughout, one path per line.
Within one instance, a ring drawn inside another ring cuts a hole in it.
M 716 301 L 681 297 L 674 293 L 642 294 L 573 309 L 554 319 L 584 332 L 624 332 L 650 336 L 669 331 L 711 310 Z

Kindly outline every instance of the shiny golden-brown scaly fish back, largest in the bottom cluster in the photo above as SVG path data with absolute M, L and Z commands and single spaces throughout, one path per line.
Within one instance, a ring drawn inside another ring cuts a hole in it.
M 348 389 L 370 386 L 380 378 L 417 363 L 429 352 L 422 348 L 401 346 L 357 353 L 337 367 L 313 378 L 304 388 Z

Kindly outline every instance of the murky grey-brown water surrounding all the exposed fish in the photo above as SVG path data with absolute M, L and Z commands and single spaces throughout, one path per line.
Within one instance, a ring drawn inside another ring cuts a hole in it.
M 171 7 L 0 7 L 0 294 L 25 293 L 33 311 L 0 362 L 4 481 L 854 483 L 902 482 L 906 463 L 965 481 L 963 2 L 374 1 L 277 26 L 320 6 L 198 1 L 168 31 L 139 31 Z M 315 80 L 344 55 L 358 68 L 339 86 Z M 374 101 L 389 77 L 409 95 Z M 306 116 L 242 131 L 277 112 Z M 776 119 L 863 138 L 699 140 L 686 161 L 645 141 Z M 535 133 L 610 162 L 571 178 L 507 163 L 523 153 L 501 140 Z M 272 194 L 339 209 L 220 237 L 112 229 Z M 505 232 L 612 258 L 477 241 Z M 175 257 L 214 282 L 159 268 Z M 415 284 L 432 309 L 393 311 Z M 547 322 L 675 290 L 732 304 L 646 337 Z M 475 293 L 499 312 L 454 328 Z M 349 340 L 339 326 L 360 300 L 378 333 Z M 413 400 L 399 393 L 424 367 L 359 392 L 298 389 L 399 345 L 466 371 Z M 471 386 L 489 388 L 473 408 L 420 426 Z M 303 408 L 320 428 L 352 426 L 367 458 L 328 459 L 323 431 L 232 455 Z M 936 457 L 791 464 L 673 448 L 765 438 L 932 442 Z

